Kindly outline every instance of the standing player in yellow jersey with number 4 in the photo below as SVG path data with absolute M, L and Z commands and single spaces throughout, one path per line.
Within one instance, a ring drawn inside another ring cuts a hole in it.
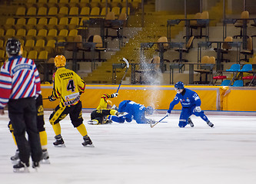
M 49 118 L 52 128 L 55 131 L 56 141 L 53 144 L 55 146 L 65 146 L 59 122 L 69 114 L 71 123 L 81 136 L 83 136 L 84 142 L 81 144 L 83 146 L 93 146 L 81 116 L 80 95 L 85 92 L 85 81 L 75 71 L 65 68 L 65 64 L 65 56 L 57 55 L 55 57 L 57 71 L 53 76 L 52 95 L 48 97 L 50 101 L 60 99 L 60 103 Z

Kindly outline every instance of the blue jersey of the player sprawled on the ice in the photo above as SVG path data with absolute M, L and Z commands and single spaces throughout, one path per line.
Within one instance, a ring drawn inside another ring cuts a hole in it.
M 136 120 L 137 123 L 148 123 L 148 119 L 145 118 L 145 106 L 137 104 L 131 100 L 124 100 L 119 104 L 118 112 L 126 112 L 125 120 L 131 122 Z

